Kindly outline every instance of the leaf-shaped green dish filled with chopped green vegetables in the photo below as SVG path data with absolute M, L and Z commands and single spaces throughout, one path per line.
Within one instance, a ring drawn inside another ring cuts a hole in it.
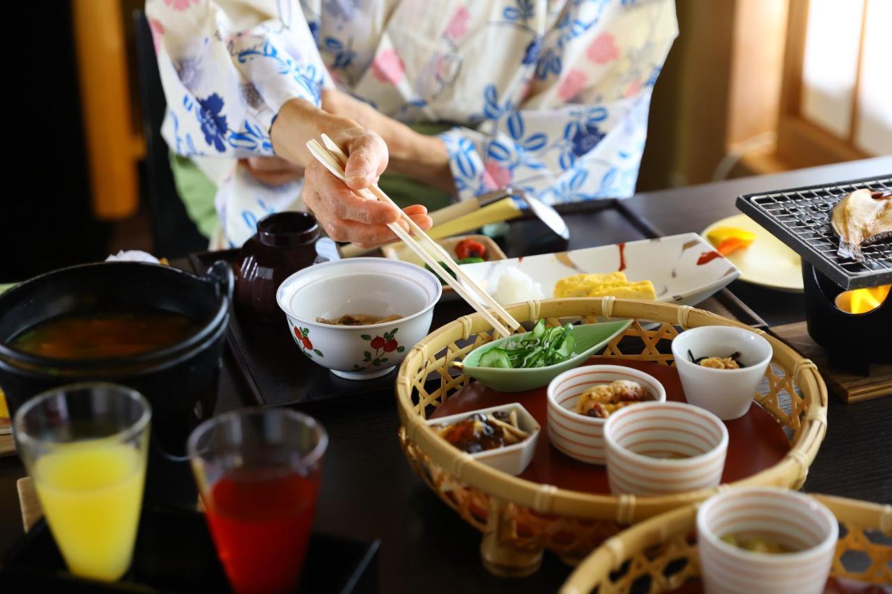
M 493 390 L 533 390 L 582 365 L 631 324 L 624 319 L 548 327 L 541 319 L 532 331 L 487 342 L 453 365 Z

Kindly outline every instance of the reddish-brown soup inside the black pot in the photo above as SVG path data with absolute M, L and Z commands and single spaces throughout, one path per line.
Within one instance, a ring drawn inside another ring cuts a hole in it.
M 54 359 L 120 358 L 169 347 L 199 327 L 186 316 L 161 310 L 74 314 L 31 326 L 10 346 Z

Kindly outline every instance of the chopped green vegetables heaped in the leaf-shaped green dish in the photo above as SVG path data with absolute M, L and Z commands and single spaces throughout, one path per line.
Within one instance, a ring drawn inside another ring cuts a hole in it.
M 518 338 L 509 339 L 481 355 L 480 367 L 531 369 L 548 367 L 570 359 L 574 354 L 576 339 L 573 325 L 545 327 L 541 319 L 533 331 Z

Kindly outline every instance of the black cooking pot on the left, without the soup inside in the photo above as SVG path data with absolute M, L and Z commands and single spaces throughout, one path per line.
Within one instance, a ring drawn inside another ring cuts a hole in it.
M 232 287 L 225 262 L 216 262 L 203 277 L 157 264 L 101 262 L 12 287 L 0 294 L 0 387 L 10 413 L 63 384 L 124 384 L 152 405 L 153 453 L 182 457 L 188 434 L 216 403 Z M 48 358 L 10 346 L 22 332 L 59 316 L 157 310 L 185 316 L 194 332 L 155 351 L 106 359 Z

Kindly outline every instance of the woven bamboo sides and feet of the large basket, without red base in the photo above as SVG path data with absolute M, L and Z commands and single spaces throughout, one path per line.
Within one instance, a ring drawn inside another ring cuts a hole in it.
M 680 327 L 717 325 L 753 330 L 690 306 L 612 297 L 527 301 L 507 309 L 520 322 L 546 318 L 551 326 L 561 320 L 592 323 L 603 318 L 634 318 L 603 354 L 662 365 L 672 363 L 667 347 Z M 767 381 L 754 400 L 782 425 L 790 450 L 774 466 L 731 486 L 798 488 L 805 482 L 827 429 L 827 390 L 814 363 L 761 330 L 753 331 L 762 334 L 774 350 L 772 365 L 765 372 Z M 425 424 L 425 418 L 471 381 L 454 369 L 450 373 L 451 362 L 491 340 L 492 327 L 479 314 L 438 328 L 409 351 L 400 367 L 396 392 L 399 436 L 409 465 L 460 517 L 483 532 L 481 557 L 492 573 L 533 573 L 541 565 L 543 549 L 555 551 L 567 563 L 578 563 L 625 526 L 727 488 L 720 485 L 637 498 L 569 491 L 501 473 L 453 448 Z

